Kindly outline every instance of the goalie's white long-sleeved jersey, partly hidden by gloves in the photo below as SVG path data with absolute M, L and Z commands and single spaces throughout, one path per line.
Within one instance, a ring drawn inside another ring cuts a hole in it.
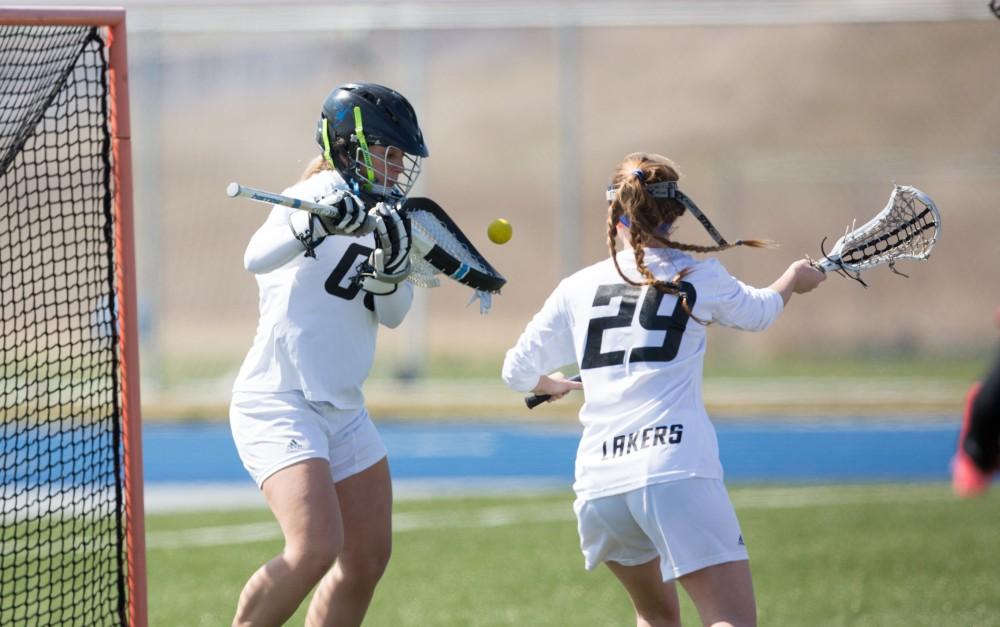
M 340 175 L 322 170 L 283 194 L 317 201 L 338 188 L 346 188 Z M 248 252 L 294 237 L 292 211 L 276 205 Z M 376 301 L 401 299 L 405 313 L 413 297 L 408 281 L 396 293 L 377 299 L 352 283 L 358 264 L 374 246 L 371 234 L 330 236 L 314 249 L 315 258 L 303 252 L 271 272 L 255 275 L 260 321 L 234 391 L 301 390 L 310 401 L 338 409 L 364 407 L 361 386 L 371 370 L 379 324 Z

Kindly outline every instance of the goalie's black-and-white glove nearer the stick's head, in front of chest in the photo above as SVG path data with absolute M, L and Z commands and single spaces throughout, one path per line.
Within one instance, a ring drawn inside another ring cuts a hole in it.
M 366 292 L 392 294 L 410 274 L 410 219 L 385 203 L 370 213 L 375 219 L 375 250 L 359 266 L 356 280 Z

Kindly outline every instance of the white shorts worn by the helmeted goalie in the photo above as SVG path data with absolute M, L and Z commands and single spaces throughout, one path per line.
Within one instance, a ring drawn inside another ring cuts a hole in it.
M 302 392 L 236 392 L 229 425 L 243 467 L 257 487 L 282 468 L 306 459 L 330 464 L 341 481 L 386 455 L 385 445 L 364 409 L 337 409 L 306 400 Z

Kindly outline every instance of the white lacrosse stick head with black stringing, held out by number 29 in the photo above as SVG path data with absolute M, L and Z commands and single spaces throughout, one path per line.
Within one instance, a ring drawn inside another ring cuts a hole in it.
M 858 281 L 862 271 L 880 265 L 902 274 L 896 262 L 927 259 L 940 236 L 941 213 L 934 201 L 915 187 L 895 185 L 885 208 L 862 226 L 848 227 L 816 266 L 824 272 L 843 271 Z

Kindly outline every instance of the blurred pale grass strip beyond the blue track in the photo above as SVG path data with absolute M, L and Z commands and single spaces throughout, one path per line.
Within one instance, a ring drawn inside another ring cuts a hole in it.
M 782 355 L 712 358 L 705 363 L 705 402 L 717 416 L 740 415 L 958 415 L 972 381 L 995 348 L 981 353 L 917 355 Z M 576 422 L 580 399 L 523 411 L 519 395 L 500 379 L 503 352 L 432 355 L 426 376 L 398 378 L 392 360 L 376 360 L 365 384 L 376 418 L 465 419 L 504 416 Z M 224 421 L 232 378 L 242 356 L 168 364 L 160 385 L 144 388 L 143 419 Z M 150 392 L 149 390 L 153 390 Z

